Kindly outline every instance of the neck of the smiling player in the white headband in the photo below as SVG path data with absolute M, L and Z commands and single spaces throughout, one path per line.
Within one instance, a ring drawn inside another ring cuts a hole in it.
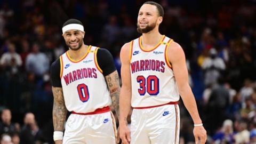
M 83 44 L 81 48 L 77 51 L 70 50 L 68 51 L 69 56 L 73 60 L 80 60 L 81 58 L 84 57 L 84 55 L 87 53 L 87 50 L 89 49 L 88 45 Z

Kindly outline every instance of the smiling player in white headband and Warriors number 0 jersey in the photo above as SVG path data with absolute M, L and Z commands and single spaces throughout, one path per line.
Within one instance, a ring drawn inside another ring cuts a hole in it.
M 81 21 L 69 19 L 62 36 L 69 50 L 52 63 L 55 143 L 116 143 L 116 127 L 109 106 L 119 115 L 119 78 L 106 49 L 85 45 Z M 71 111 L 64 123 L 67 110 Z

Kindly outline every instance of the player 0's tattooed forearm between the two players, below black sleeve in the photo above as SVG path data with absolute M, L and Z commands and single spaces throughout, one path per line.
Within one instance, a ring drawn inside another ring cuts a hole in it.
M 110 96 L 112 100 L 112 104 L 115 108 L 117 117 L 119 117 L 119 94 L 120 94 L 120 84 L 117 70 L 113 73 L 105 76 L 106 82 L 108 85 L 108 89 L 110 91 Z

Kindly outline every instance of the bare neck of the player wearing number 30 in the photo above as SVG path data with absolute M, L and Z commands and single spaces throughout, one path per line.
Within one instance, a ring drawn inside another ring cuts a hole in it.
M 142 34 L 141 43 L 142 46 L 145 47 L 145 49 L 150 49 L 151 47 L 157 45 L 162 38 L 163 35 L 161 35 L 158 30 L 151 30 L 149 31 L 149 33 Z

